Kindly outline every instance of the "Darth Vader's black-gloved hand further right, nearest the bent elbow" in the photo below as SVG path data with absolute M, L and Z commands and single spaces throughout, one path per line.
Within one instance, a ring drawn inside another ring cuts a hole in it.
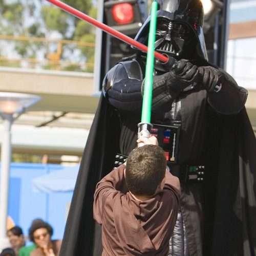
M 199 67 L 199 82 L 208 92 L 219 92 L 222 88 L 224 73 L 217 68 L 206 66 Z

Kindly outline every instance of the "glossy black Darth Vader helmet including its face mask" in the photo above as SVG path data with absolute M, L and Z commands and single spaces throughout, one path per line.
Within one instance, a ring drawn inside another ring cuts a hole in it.
M 155 49 L 179 58 L 207 60 L 203 34 L 201 0 L 157 0 L 157 30 Z M 135 37 L 147 45 L 151 16 Z

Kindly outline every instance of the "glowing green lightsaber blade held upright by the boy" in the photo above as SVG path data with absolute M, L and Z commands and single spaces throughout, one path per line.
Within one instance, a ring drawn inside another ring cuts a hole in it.
M 154 1 L 151 7 L 150 32 L 148 34 L 147 43 L 147 59 L 144 81 L 144 93 L 141 112 L 141 123 L 151 122 L 151 105 L 152 105 L 152 89 L 153 89 L 153 73 L 154 73 L 154 51 L 156 39 L 156 24 L 157 24 L 157 6 Z

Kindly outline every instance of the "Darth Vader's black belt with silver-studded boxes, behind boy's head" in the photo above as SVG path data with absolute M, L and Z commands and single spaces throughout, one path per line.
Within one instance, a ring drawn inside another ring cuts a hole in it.
M 114 167 L 117 168 L 126 161 L 127 156 L 117 154 L 115 158 Z M 169 161 L 167 161 L 167 165 L 170 173 L 178 177 L 181 182 L 200 182 L 204 180 L 204 165 L 173 164 Z

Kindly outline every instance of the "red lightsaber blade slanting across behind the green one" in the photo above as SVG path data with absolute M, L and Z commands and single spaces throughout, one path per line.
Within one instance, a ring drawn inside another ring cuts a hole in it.
M 136 48 L 138 48 L 139 50 L 141 50 L 142 52 L 147 52 L 147 47 L 143 44 L 141 44 L 140 42 L 137 42 L 135 41 L 134 39 L 132 39 L 131 37 L 129 36 L 126 36 L 124 35 L 123 33 L 120 33 L 119 31 L 115 30 L 115 29 L 112 29 L 111 27 L 101 23 L 101 22 L 98 22 L 98 20 L 76 10 L 75 8 L 65 4 L 65 3 L 62 3 L 61 1 L 59 0 L 46 0 L 56 6 L 58 6 L 60 9 L 102 29 L 103 31 L 105 31 L 106 33 L 108 34 L 111 34 L 112 36 L 126 42 L 127 44 L 129 45 L 132 45 Z M 155 57 L 159 60 L 161 60 L 162 62 L 167 62 L 168 61 L 168 57 L 160 54 L 159 52 L 156 52 L 154 53 Z

